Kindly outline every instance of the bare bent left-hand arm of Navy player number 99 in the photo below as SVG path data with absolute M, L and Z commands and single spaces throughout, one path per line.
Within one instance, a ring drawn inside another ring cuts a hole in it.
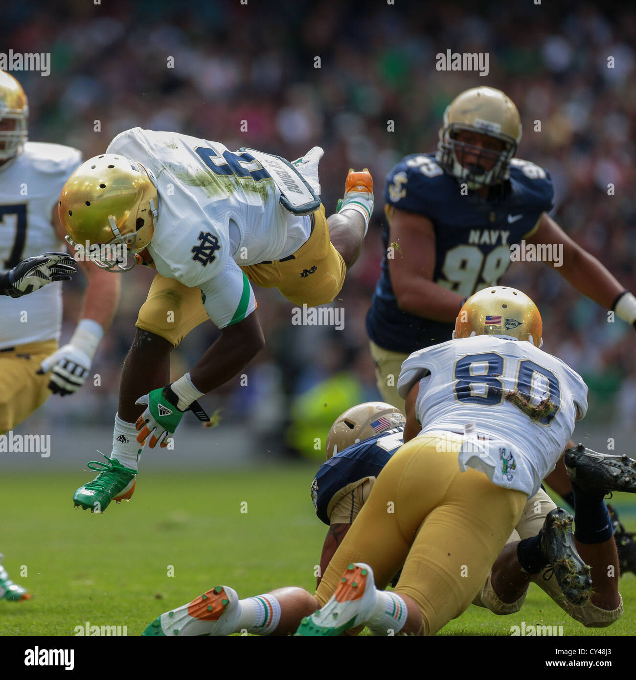
M 435 230 L 423 215 L 392 208 L 388 259 L 393 290 L 401 311 L 427 319 L 454 322 L 463 298 L 433 282 Z

